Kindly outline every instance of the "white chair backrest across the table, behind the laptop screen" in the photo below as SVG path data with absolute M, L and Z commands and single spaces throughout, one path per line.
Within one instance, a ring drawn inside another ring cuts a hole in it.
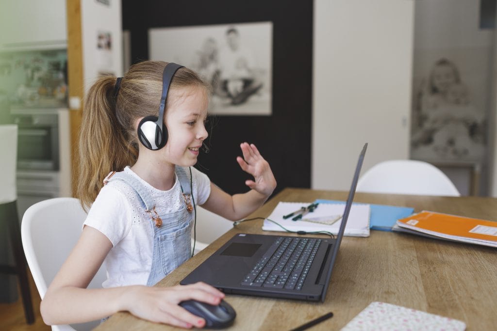
M 459 197 L 451 180 L 423 161 L 390 160 L 376 164 L 361 176 L 357 192 Z

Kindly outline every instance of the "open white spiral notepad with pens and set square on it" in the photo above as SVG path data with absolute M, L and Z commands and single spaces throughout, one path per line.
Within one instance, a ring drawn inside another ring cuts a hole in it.
M 320 224 L 318 222 L 297 220 L 292 218 L 284 219 L 295 210 L 310 205 L 312 202 L 279 202 L 262 225 L 264 231 L 284 231 L 277 224 L 267 219 L 273 220 L 291 231 L 328 231 L 336 235 L 340 228 L 341 217 L 332 225 Z M 326 219 L 335 218 L 337 215 L 343 215 L 345 203 L 320 203 L 318 207 L 303 218 Z M 345 236 L 369 237 L 369 216 L 371 214 L 369 204 L 353 204 L 348 215 L 347 225 L 345 226 Z

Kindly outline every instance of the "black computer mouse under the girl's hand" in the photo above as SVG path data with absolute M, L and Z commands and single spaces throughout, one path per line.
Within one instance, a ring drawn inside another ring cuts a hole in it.
M 235 309 L 224 300 L 219 305 L 213 306 L 205 302 L 186 300 L 179 303 L 181 307 L 205 320 L 206 329 L 224 329 L 233 324 L 237 313 Z

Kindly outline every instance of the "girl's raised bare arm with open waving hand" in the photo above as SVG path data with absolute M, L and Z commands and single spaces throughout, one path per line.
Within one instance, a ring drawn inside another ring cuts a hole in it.
M 244 157 L 237 157 L 240 167 L 252 175 L 254 180 L 247 180 L 245 184 L 251 189 L 244 194 L 230 196 L 211 183 L 211 193 L 202 205 L 227 219 L 242 219 L 260 207 L 276 188 L 276 180 L 269 167 L 269 163 L 260 155 L 254 144 L 244 142 L 240 145 Z

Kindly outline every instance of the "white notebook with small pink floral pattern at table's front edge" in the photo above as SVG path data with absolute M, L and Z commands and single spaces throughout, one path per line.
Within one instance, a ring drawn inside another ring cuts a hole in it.
M 341 331 L 464 331 L 464 322 L 384 302 L 372 302 Z

